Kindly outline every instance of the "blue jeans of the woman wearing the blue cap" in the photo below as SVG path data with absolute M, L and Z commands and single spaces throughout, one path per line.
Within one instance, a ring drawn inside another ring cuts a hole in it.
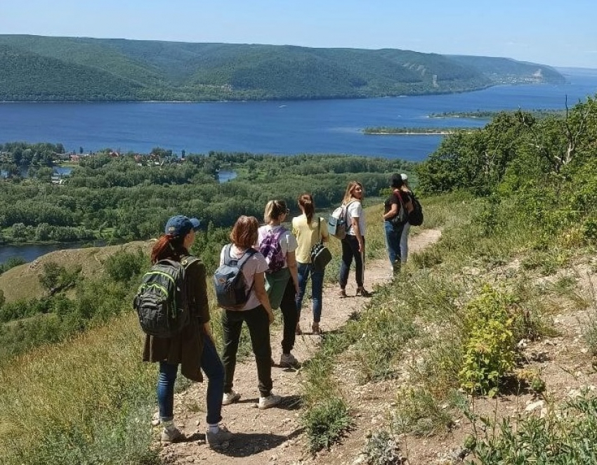
M 224 393 L 224 367 L 214 346 L 214 341 L 204 334 L 201 368 L 207 377 L 207 424 L 218 424 L 222 420 L 222 395 Z M 178 374 L 178 363 L 159 362 L 157 378 L 157 405 L 162 421 L 173 419 L 174 381 Z

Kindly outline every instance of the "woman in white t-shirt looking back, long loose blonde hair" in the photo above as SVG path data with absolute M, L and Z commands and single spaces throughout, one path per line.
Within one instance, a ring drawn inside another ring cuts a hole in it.
M 365 214 L 362 209 L 362 198 L 365 194 L 363 186 L 358 181 L 350 181 L 342 204 L 346 205 L 346 223 L 348 230 L 342 240 L 342 263 L 340 265 L 340 297 L 346 297 L 346 284 L 350 265 L 355 260 L 355 280 L 357 282 L 357 296 L 370 297 L 365 290 Z

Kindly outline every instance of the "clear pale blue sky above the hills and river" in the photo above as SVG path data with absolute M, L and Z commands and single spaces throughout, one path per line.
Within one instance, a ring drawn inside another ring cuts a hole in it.
M 0 0 L 1 34 L 401 48 L 597 68 L 596 0 Z

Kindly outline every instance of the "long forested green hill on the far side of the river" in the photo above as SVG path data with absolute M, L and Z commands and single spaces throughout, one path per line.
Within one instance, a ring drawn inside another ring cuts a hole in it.
M 365 98 L 529 81 L 564 78 L 505 58 L 389 48 L 0 35 L 0 101 Z

